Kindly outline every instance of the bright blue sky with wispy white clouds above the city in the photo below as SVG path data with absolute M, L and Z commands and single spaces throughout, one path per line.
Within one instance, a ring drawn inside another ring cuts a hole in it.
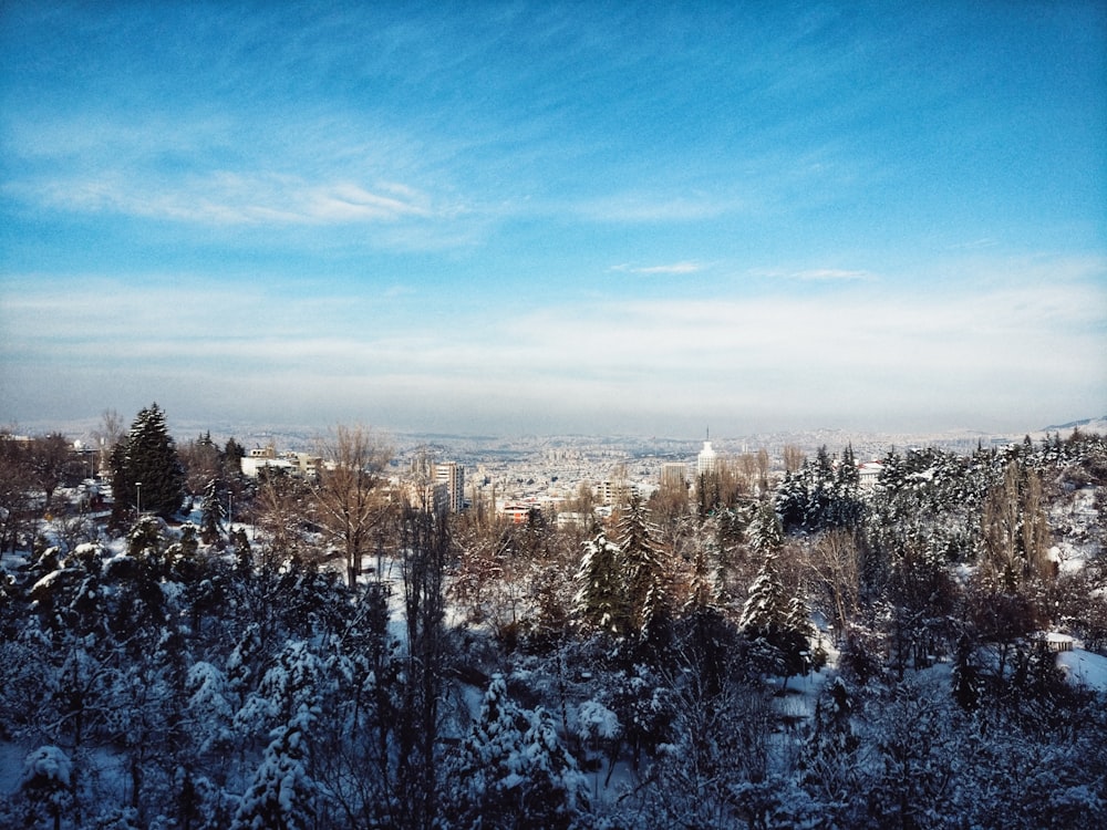
M 155 401 L 1103 416 L 1107 3 L 0 0 L 0 424 Z

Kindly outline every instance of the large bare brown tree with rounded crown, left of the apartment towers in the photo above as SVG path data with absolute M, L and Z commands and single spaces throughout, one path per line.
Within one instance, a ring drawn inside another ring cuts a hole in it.
M 391 452 L 361 426 L 339 426 L 320 449 L 324 463 L 312 483 L 317 517 L 341 548 L 346 582 L 355 588 L 362 554 L 386 511 L 380 485 Z

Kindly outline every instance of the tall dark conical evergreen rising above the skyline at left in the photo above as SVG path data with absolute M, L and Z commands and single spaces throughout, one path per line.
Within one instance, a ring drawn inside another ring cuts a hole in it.
M 165 423 L 152 404 L 142 409 L 131 433 L 112 453 L 112 491 L 117 507 L 168 518 L 185 498 L 185 470 Z

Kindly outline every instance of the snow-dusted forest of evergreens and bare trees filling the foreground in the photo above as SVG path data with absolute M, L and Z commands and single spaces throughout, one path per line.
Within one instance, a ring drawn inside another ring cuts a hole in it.
M 360 428 L 248 480 L 156 404 L 108 426 L 111 500 L 0 434 L 0 826 L 1107 826 L 1099 435 L 559 525 L 447 512 Z

